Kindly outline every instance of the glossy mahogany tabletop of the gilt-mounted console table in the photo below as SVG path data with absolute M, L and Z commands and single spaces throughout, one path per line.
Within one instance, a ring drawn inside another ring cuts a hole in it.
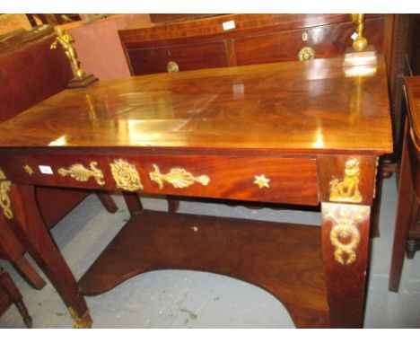
M 383 59 L 346 77 L 341 58 L 145 75 L 66 90 L 6 121 L 0 146 L 392 150 Z

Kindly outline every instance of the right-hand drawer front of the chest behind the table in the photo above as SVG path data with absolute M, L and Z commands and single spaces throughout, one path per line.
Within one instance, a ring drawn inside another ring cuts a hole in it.
M 382 49 L 381 18 L 366 21 L 364 36 L 369 44 Z M 312 27 L 302 30 L 278 31 L 276 33 L 248 36 L 234 40 L 238 66 L 297 60 L 301 48 L 311 47 L 315 57 L 342 57 L 351 47 L 355 25 L 351 22 Z M 303 34 L 306 35 L 302 40 Z

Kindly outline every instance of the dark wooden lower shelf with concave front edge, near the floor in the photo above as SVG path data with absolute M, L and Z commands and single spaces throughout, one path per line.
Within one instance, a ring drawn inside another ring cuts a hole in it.
M 282 301 L 297 326 L 328 326 L 317 226 L 144 211 L 118 233 L 79 286 L 84 295 L 98 295 L 129 277 L 165 268 L 248 281 Z M 312 321 L 302 321 L 308 313 Z

